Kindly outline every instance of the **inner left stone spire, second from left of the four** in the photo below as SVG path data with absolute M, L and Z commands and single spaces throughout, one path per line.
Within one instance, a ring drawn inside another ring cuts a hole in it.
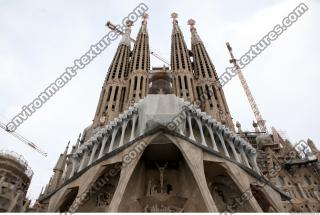
M 127 107 L 144 98 L 147 94 L 148 70 L 150 70 L 149 35 L 147 31 L 148 17 L 147 13 L 143 15 L 142 25 L 137 35 L 129 63 L 128 92 L 126 95 Z

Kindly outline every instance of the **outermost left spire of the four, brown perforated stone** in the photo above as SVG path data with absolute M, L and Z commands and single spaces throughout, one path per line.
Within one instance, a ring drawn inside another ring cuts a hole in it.
M 126 94 L 126 78 L 128 76 L 132 22 L 127 22 L 127 29 L 122 35 L 116 54 L 108 70 L 107 78 L 102 86 L 100 99 L 93 127 L 104 126 L 123 111 Z

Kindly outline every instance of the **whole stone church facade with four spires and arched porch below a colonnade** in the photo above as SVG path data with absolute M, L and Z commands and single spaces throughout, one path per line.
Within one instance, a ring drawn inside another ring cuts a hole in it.
M 234 125 L 195 22 L 189 50 L 172 18 L 170 67 L 150 67 L 147 16 L 133 49 L 128 25 L 92 124 L 32 211 L 319 212 L 315 144 L 303 155 L 275 129 Z

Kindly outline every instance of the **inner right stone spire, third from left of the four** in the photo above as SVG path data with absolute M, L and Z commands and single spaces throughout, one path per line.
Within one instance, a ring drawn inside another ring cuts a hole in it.
M 195 101 L 194 83 L 189 50 L 178 25 L 178 14 L 171 14 L 173 29 L 171 34 L 171 69 L 174 77 L 176 95 Z

